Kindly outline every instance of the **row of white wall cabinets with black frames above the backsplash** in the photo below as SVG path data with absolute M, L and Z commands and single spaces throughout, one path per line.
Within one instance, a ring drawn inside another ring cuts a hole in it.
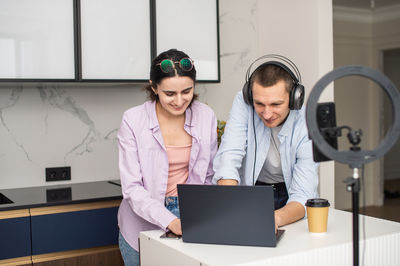
M 219 82 L 217 0 L 1 0 L 0 82 L 149 79 L 170 48 Z

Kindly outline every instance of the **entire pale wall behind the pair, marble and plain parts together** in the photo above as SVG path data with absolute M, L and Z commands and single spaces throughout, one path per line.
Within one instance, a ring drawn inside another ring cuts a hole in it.
M 263 54 L 295 61 L 307 95 L 332 69 L 331 1 L 220 0 L 219 5 L 221 83 L 196 87 L 219 119 L 228 118 L 248 65 Z M 145 100 L 141 87 L 1 85 L 0 188 L 48 185 L 45 167 L 63 165 L 71 166 L 70 182 L 117 179 L 116 130 L 123 111 Z M 332 100 L 333 93 L 324 97 Z M 333 164 L 323 164 L 321 173 L 321 194 L 334 204 Z

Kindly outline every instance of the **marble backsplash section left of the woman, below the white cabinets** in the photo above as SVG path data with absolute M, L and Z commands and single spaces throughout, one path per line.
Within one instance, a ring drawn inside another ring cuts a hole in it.
M 141 90 L 10 86 L 0 89 L 0 188 L 44 185 L 46 167 L 71 166 L 72 182 L 119 178 L 117 130 Z

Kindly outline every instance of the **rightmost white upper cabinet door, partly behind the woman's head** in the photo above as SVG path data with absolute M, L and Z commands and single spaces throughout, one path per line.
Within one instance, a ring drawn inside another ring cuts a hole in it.
M 157 0 L 157 54 L 184 51 L 194 60 L 197 80 L 219 81 L 217 7 L 216 0 Z

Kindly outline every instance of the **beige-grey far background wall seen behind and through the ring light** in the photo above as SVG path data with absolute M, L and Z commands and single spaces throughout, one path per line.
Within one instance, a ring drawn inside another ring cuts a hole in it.
M 400 6 L 374 11 L 334 8 L 334 65 L 364 65 L 382 69 L 382 50 L 400 47 Z M 349 77 L 335 82 L 338 125 L 363 130 L 362 149 L 374 149 L 383 136 L 383 90 L 365 78 Z M 346 137 L 340 149 L 348 149 Z M 347 165 L 335 165 L 335 199 L 339 209 L 351 208 L 351 193 L 343 180 L 351 175 Z M 383 161 L 365 166 L 366 205 L 383 204 Z M 362 195 L 361 195 L 362 196 Z M 362 205 L 362 202 L 361 202 Z

